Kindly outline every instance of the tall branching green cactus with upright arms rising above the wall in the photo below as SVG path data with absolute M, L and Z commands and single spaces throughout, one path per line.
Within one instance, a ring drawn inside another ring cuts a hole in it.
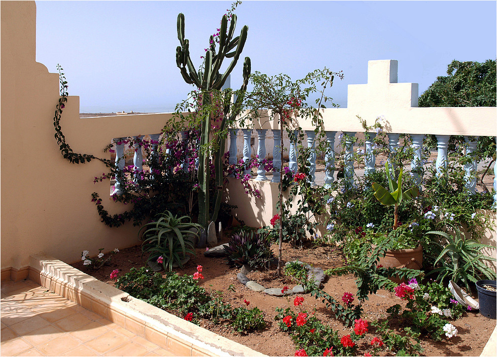
M 229 74 L 233 70 L 240 57 L 240 54 L 245 45 L 245 40 L 247 39 L 248 26 L 243 26 L 240 31 L 240 35 L 233 38 L 236 25 L 236 15 L 231 15 L 231 23 L 228 30 L 228 17 L 224 15 L 221 20 L 221 28 L 219 31 L 219 51 L 216 53 L 216 42 L 214 37 L 210 36 L 210 46 L 205 53 L 205 63 L 203 69 L 198 72 L 192 63 L 190 58 L 190 43 L 188 39 L 185 39 L 185 15 L 183 13 L 178 14 L 178 40 L 180 45 L 176 48 L 176 65 L 181 71 L 183 79 L 188 84 L 193 84 L 197 86 L 203 93 L 202 104 L 210 104 L 210 95 L 206 91 L 220 91 L 224 82 L 228 78 Z M 226 71 L 223 74 L 219 73 L 221 64 L 224 58 L 232 58 Z M 243 84 L 240 88 L 241 92 L 245 92 L 247 89 L 248 79 L 250 77 L 250 58 L 245 57 L 243 63 Z M 241 102 L 243 101 L 243 96 L 239 95 L 235 102 L 235 108 L 239 110 L 241 107 Z M 220 130 L 226 128 L 226 123 L 233 121 L 233 119 L 238 115 L 237 111 L 230 112 L 230 104 L 226 103 L 223 107 L 224 117 L 221 121 Z M 229 114 L 229 116 L 228 116 Z M 200 131 L 200 147 L 207 148 L 210 140 L 210 120 L 211 115 L 206 115 L 202 119 L 201 131 Z M 221 204 L 222 196 L 222 184 L 223 184 L 223 170 L 222 170 L 222 155 L 224 150 L 225 137 L 219 135 L 216 137 L 218 142 L 215 145 L 215 151 L 213 154 L 213 162 L 215 168 L 215 185 L 214 190 L 214 211 L 212 218 L 209 214 L 209 178 L 210 178 L 210 166 L 209 159 L 211 156 L 210 150 L 207 148 L 205 150 L 200 150 L 199 153 L 199 224 L 207 227 L 211 221 L 217 219 L 217 213 L 219 212 L 219 207 Z

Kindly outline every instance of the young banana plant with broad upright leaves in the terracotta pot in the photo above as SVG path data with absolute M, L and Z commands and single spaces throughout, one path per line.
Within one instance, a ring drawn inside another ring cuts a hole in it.
M 375 197 L 380 203 L 385 206 L 395 206 L 394 212 L 394 230 L 398 227 L 398 206 L 404 200 L 411 200 L 419 195 L 419 190 L 416 186 L 412 186 L 407 191 L 402 191 L 402 168 L 398 174 L 398 181 L 395 182 L 390 176 L 388 163 L 385 163 L 385 171 L 387 173 L 388 184 L 390 192 L 382 185 L 373 182 L 373 190 L 375 190 Z

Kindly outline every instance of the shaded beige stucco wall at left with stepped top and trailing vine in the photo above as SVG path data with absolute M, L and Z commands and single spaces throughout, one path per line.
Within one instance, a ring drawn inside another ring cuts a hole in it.
M 98 192 L 110 213 L 123 211 L 108 198 L 107 172 L 99 161 L 71 164 L 54 138 L 58 74 L 35 61 L 34 1 L 1 1 L 1 268 L 28 265 L 44 250 L 68 263 L 82 250 L 97 254 L 138 243 L 131 224 L 108 228 L 100 222 L 91 194 Z M 69 97 L 61 119 L 75 152 L 102 156 L 113 137 L 160 132 L 170 115 L 79 118 L 79 97 Z M 108 200 L 108 202 L 106 202 Z

